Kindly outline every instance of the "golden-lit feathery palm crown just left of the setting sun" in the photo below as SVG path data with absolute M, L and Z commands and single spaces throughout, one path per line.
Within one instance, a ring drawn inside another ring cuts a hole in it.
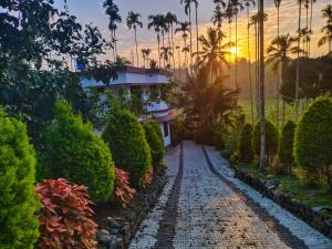
M 214 28 L 208 28 L 206 37 L 201 35 L 199 42 L 201 43 L 203 50 L 195 53 L 201 58 L 201 63 L 206 64 L 214 79 L 214 72 L 216 76 L 222 76 L 221 64 L 229 66 L 226 55 L 229 53 L 227 48 L 229 44 L 219 45 L 225 35 Z

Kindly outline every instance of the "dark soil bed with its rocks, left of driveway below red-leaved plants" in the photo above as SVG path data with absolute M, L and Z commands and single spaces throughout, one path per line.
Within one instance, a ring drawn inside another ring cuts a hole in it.
M 126 206 L 110 203 L 95 207 L 95 220 L 98 225 L 97 241 L 100 249 L 122 249 L 129 246 L 141 222 L 153 208 L 166 183 L 166 173 L 154 173 L 148 188 L 137 190 Z

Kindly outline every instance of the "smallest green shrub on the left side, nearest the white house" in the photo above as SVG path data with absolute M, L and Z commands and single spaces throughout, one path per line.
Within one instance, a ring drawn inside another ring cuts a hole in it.
M 159 167 L 164 158 L 164 141 L 159 124 L 148 121 L 144 124 L 145 137 L 149 145 L 153 165 Z

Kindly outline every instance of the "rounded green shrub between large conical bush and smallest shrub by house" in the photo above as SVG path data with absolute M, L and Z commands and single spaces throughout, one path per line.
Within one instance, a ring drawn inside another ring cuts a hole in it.
M 151 169 L 151 149 L 138 120 L 128 111 L 114 110 L 103 133 L 116 167 L 131 174 L 131 183 L 139 186 Z

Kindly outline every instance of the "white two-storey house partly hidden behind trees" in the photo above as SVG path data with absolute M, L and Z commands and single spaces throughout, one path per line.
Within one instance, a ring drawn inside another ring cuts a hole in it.
M 155 86 L 160 84 L 169 84 L 172 73 L 163 69 L 143 69 L 124 66 L 117 72 L 117 79 L 113 80 L 108 85 L 95 80 L 83 80 L 83 87 L 111 89 L 114 92 L 123 87 L 129 92 L 142 92 L 142 100 L 146 98 L 145 92 L 153 91 Z M 164 136 L 165 147 L 170 145 L 170 121 L 175 117 L 172 108 L 165 103 L 152 103 L 147 106 L 149 117 L 159 123 Z M 141 117 L 145 120 L 146 117 Z

